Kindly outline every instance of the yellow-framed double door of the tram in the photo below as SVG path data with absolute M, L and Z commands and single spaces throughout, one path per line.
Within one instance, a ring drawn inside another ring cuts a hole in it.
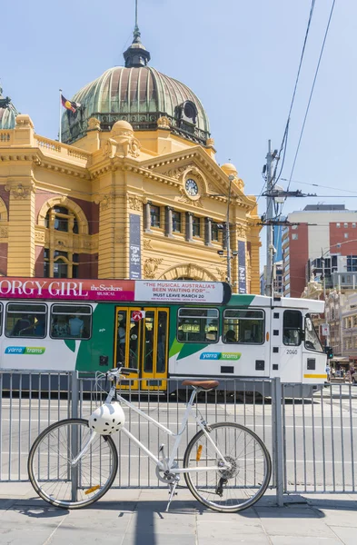
M 143 318 L 137 321 L 138 311 Z M 115 363 L 139 371 L 141 390 L 166 390 L 169 311 L 151 307 L 116 308 Z M 130 388 L 139 389 L 137 375 Z M 122 388 L 129 388 L 123 383 Z

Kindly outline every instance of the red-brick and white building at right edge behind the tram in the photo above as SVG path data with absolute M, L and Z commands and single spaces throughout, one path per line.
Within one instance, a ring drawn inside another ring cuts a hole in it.
M 357 286 L 357 212 L 344 204 L 309 204 L 289 213 L 283 229 L 283 293 L 301 297 L 313 278 L 325 289 Z

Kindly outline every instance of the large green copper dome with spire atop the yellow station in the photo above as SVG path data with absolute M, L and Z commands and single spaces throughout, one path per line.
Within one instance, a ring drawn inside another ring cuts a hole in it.
M 64 112 L 63 142 L 70 144 L 84 136 L 91 117 L 99 119 L 103 131 L 119 120 L 132 124 L 134 130 L 149 131 L 157 129 L 157 120 L 165 116 L 173 134 L 204 145 L 210 128 L 201 101 L 186 85 L 147 66 L 150 53 L 138 31 L 124 60 L 125 66 L 106 70 L 74 94 L 72 102 L 80 106 L 75 112 Z

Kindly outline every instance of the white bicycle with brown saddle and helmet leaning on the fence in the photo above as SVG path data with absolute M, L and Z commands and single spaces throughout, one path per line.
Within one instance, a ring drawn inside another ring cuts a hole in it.
M 29 453 L 28 475 L 41 498 L 64 509 L 80 509 L 102 498 L 112 486 L 118 469 L 118 453 L 112 439 L 112 433 L 117 430 L 134 441 L 156 464 L 159 481 L 169 487 L 166 510 L 182 474 L 194 498 L 212 510 L 244 510 L 263 496 L 271 479 L 272 461 L 263 441 L 241 424 L 225 421 L 209 425 L 201 414 L 195 415 L 200 430 L 186 447 L 183 467 L 176 461 L 196 395 L 213 390 L 219 385 L 218 381 L 183 381 L 184 386 L 193 387 L 193 392 L 186 404 L 181 428 L 174 433 L 118 393 L 118 380 L 129 372 L 137 370 L 119 367 L 105 375 L 100 373 L 113 384 L 104 404 L 92 413 L 89 421 L 80 418 L 58 421 L 37 437 Z M 120 411 L 124 415 L 123 404 L 174 438 L 169 456 L 164 454 L 164 445 L 156 456 L 124 427 L 124 416 L 120 418 Z M 110 421 L 104 416 L 101 425 L 105 428 L 101 428 L 101 433 L 94 431 L 99 420 L 95 415 L 108 415 L 111 411 L 119 415 L 118 418 Z

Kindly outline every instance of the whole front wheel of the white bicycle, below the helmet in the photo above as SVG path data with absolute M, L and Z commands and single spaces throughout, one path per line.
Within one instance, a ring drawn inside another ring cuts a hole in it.
M 35 440 L 28 457 L 28 476 L 41 498 L 56 507 L 79 509 L 110 489 L 118 470 L 118 453 L 109 436 L 96 435 L 80 461 L 71 461 L 91 437 L 88 421 L 55 422 Z

